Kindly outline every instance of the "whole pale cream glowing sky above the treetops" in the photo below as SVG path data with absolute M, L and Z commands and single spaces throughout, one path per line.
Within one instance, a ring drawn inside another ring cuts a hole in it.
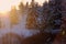
M 0 0 L 0 12 L 10 11 L 12 6 L 18 7 L 21 1 L 25 4 L 32 0 Z M 35 2 L 38 2 L 40 4 L 42 4 L 44 1 L 45 0 L 35 0 Z

